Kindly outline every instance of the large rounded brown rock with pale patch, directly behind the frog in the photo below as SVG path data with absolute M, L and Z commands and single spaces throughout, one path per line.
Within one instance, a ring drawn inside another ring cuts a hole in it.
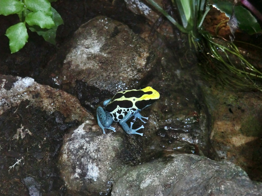
M 71 41 L 60 74 L 60 84 L 82 80 L 112 93 L 137 87 L 155 66 L 150 45 L 128 26 L 105 16 L 83 24 Z

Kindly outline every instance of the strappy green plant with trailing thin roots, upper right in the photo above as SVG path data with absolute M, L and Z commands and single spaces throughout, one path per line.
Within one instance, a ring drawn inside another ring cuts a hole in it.
M 172 0 L 182 21 L 182 24 L 179 24 L 154 0 L 147 1 L 181 32 L 187 33 L 190 48 L 201 52 L 205 59 L 201 65 L 205 66 L 206 75 L 216 77 L 221 84 L 231 89 L 262 91 L 261 84 L 256 83 L 258 80 L 262 81 L 262 72 L 245 59 L 233 42 L 222 39 L 217 41 L 216 37 L 202 27 L 210 6 L 213 6 L 230 17 L 233 24 L 229 25 L 240 27 L 250 34 L 261 33 L 259 24 L 248 10 L 227 1 Z M 234 33 L 233 27 L 231 32 Z

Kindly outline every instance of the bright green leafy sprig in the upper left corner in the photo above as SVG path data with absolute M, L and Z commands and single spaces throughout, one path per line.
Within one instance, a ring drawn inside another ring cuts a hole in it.
M 59 13 L 52 8 L 56 0 L 0 0 L 0 15 L 17 14 L 20 22 L 6 30 L 11 53 L 19 51 L 27 42 L 28 27 L 43 36 L 45 41 L 55 44 L 57 27 L 63 24 Z

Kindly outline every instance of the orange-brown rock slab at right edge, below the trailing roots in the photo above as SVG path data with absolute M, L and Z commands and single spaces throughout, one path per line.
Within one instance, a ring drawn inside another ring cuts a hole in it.
M 205 96 L 214 118 L 210 139 L 217 160 L 235 163 L 262 181 L 262 94 L 206 88 Z

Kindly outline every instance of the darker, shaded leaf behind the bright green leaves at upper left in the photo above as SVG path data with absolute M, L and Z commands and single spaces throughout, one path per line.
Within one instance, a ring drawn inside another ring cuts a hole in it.
M 54 20 L 54 24 L 55 24 L 54 27 L 50 29 L 42 29 L 39 26 L 31 26 L 29 27 L 29 29 L 31 31 L 36 31 L 38 35 L 43 36 L 45 41 L 51 44 L 56 44 L 56 30 L 59 25 L 63 24 L 63 19 L 61 18 L 59 13 L 54 8 L 51 8 L 51 10 L 53 13 L 52 19 Z

